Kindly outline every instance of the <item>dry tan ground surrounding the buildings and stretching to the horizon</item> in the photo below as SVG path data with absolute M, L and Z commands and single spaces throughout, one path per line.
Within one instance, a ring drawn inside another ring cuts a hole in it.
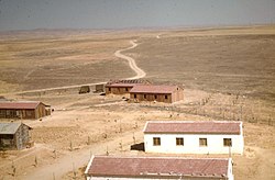
M 131 41 L 138 46 L 129 48 Z M 134 59 L 144 79 L 183 86 L 184 101 L 129 103 L 127 95 L 69 88 L 136 76 L 117 50 Z M 148 120 L 243 121 L 244 155 L 232 155 L 235 179 L 275 179 L 274 52 L 272 25 L 0 33 L 0 97 L 55 110 L 23 121 L 33 127 L 34 146 L 1 151 L 0 179 L 84 179 L 91 155 L 168 156 L 131 150 Z

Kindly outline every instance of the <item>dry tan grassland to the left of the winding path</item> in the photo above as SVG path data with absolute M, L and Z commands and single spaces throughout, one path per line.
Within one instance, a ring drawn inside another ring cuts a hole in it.
M 134 76 L 127 61 L 118 60 L 113 56 L 117 49 L 130 45 L 130 37 L 86 35 L 73 40 L 59 36 L 2 40 L 0 80 L 10 88 L 1 89 L 0 92 L 91 83 Z

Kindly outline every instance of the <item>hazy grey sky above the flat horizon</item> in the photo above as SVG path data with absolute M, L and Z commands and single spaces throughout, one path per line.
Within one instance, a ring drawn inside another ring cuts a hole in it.
M 275 24 L 275 0 L 0 0 L 0 31 Z

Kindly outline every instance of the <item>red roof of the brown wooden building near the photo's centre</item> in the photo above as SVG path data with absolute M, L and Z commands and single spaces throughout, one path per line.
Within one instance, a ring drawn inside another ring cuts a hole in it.
M 130 93 L 173 93 L 177 88 L 177 86 L 138 85 Z

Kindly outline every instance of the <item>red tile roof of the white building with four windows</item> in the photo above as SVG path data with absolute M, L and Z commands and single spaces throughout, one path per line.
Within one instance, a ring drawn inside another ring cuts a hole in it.
M 148 121 L 144 133 L 241 134 L 241 124 L 232 121 Z

